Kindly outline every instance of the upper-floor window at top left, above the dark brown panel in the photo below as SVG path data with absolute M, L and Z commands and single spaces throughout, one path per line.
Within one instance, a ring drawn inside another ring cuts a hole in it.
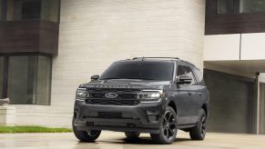
M 60 0 L 7 0 L 6 20 L 58 22 Z

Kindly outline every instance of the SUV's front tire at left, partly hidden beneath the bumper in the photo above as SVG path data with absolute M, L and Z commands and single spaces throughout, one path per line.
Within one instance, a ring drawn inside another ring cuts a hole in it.
M 100 135 L 100 130 L 89 130 L 89 131 L 78 131 L 76 130 L 76 126 L 74 125 L 75 118 L 73 117 L 72 127 L 73 132 L 76 135 L 76 138 L 81 142 L 92 143 L 97 140 L 98 136 Z

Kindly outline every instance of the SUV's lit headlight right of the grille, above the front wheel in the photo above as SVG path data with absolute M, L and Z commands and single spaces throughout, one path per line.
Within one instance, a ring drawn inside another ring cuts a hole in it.
M 161 98 L 162 91 L 160 90 L 143 90 L 138 94 L 139 100 L 158 100 Z

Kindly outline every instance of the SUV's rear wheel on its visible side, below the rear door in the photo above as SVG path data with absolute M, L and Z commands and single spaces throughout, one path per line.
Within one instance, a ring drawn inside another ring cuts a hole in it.
M 203 109 L 199 111 L 199 122 L 198 124 L 191 128 L 189 131 L 189 136 L 192 140 L 204 140 L 206 135 L 206 123 L 207 116 Z

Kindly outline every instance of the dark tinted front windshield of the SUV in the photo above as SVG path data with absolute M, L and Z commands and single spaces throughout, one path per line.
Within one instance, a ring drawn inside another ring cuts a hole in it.
M 110 65 L 100 76 L 100 80 L 107 79 L 140 79 L 171 81 L 174 63 L 161 61 L 119 61 Z

